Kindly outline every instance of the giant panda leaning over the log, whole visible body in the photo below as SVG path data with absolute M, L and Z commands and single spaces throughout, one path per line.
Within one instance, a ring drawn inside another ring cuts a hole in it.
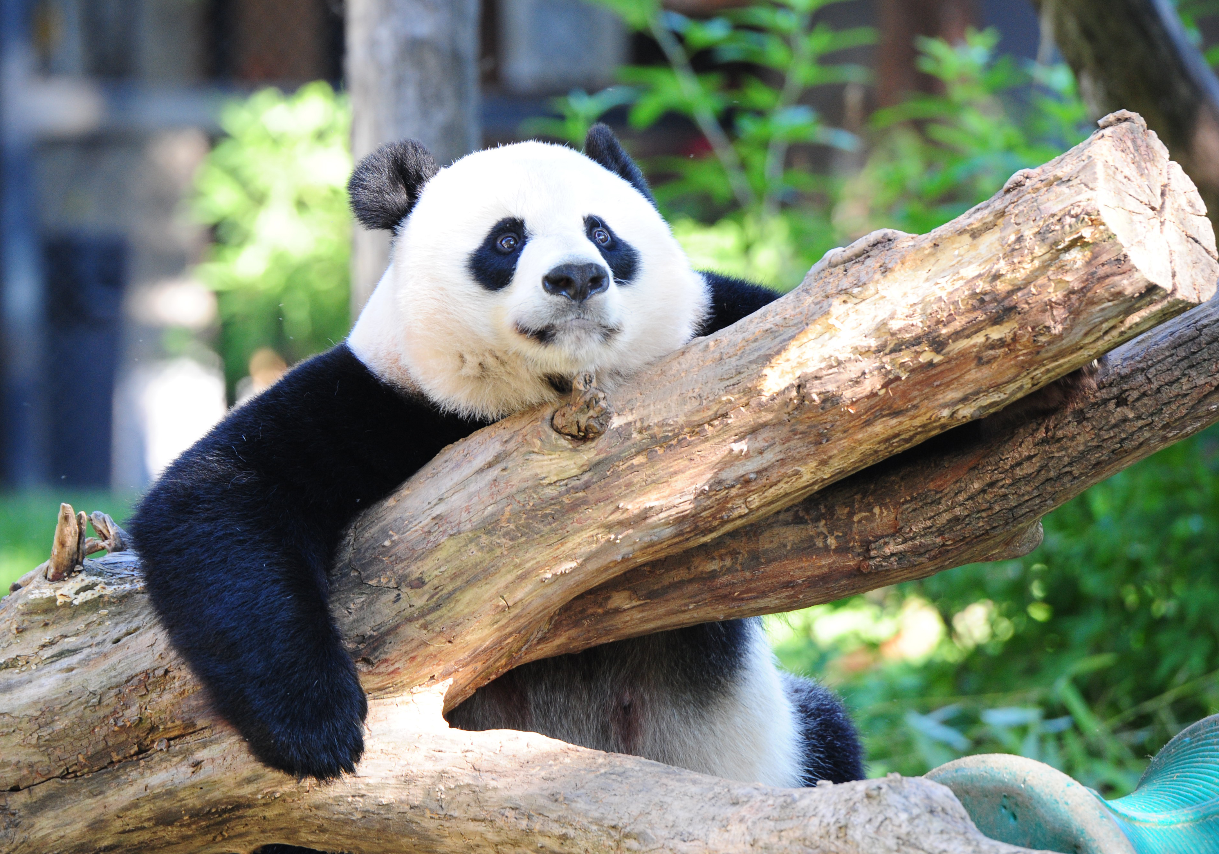
M 235 407 L 132 521 L 162 622 L 265 764 L 355 770 L 367 704 L 327 606 L 352 517 L 441 448 L 553 404 L 584 371 L 612 390 L 775 299 L 691 268 L 605 126 L 584 152 L 525 142 L 438 168 L 405 142 L 364 159 L 351 204 L 394 234 L 350 336 Z M 449 715 L 720 777 L 795 787 L 862 776 L 841 703 L 780 673 L 757 620 L 538 661 Z

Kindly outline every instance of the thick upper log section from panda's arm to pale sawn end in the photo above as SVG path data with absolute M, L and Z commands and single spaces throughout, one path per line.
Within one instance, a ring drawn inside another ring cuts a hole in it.
M 340 551 L 332 601 L 364 686 L 452 678 L 453 705 L 584 590 L 992 412 L 1208 298 L 1217 274 L 1210 223 L 1154 134 L 1098 131 L 645 370 L 594 442 L 525 412 L 436 456 Z

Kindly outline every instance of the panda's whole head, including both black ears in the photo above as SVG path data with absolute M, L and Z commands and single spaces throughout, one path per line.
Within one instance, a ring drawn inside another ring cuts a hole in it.
M 496 418 L 581 371 L 613 383 L 689 340 L 706 285 L 638 167 L 602 126 L 585 152 L 545 143 L 438 170 L 416 143 L 366 157 L 356 216 L 395 234 L 349 344 L 383 379 Z

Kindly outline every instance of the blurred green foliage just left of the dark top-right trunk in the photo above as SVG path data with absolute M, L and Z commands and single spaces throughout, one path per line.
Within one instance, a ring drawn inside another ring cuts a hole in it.
M 1022 70 L 1012 57 L 995 56 L 997 43 L 995 29 L 969 30 L 958 45 L 917 40 L 919 68 L 942 81 L 945 93 L 876 111 L 876 144 L 835 211 L 841 229 L 926 233 L 989 199 L 1013 172 L 1040 166 L 1087 135 L 1070 70 Z M 1018 92 L 1029 92 L 1028 100 Z

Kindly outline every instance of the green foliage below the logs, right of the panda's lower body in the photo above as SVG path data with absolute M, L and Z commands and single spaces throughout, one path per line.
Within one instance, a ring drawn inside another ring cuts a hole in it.
M 872 773 L 1019 753 L 1123 794 L 1219 711 L 1219 428 L 1089 489 L 1045 531 L 1024 559 L 772 622 L 783 662 L 828 673 L 855 708 Z

